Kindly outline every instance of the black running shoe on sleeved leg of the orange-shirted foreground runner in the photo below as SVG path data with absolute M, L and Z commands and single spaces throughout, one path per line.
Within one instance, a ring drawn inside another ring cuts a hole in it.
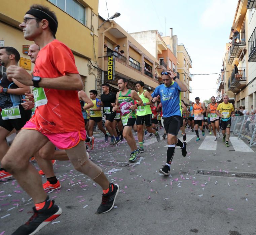
M 113 206 L 115 204 L 116 196 L 119 192 L 119 185 L 113 184 L 113 186 L 114 186 L 114 189 L 111 193 L 102 194 L 101 205 L 99 206 L 99 208 L 97 210 L 99 214 L 106 213 L 113 208 Z

